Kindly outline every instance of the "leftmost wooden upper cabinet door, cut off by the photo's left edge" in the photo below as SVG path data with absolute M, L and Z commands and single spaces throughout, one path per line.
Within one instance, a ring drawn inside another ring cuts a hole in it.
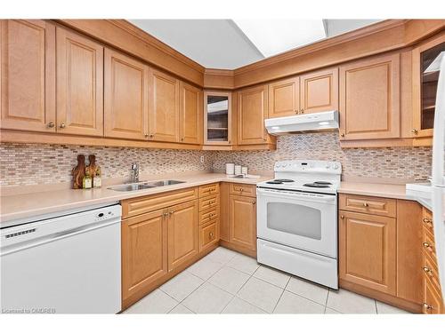
M 0 21 L 1 127 L 54 132 L 55 27 L 44 20 Z

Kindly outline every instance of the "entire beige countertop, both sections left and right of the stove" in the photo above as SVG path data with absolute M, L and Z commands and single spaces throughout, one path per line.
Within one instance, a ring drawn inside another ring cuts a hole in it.
M 256 185 L 259 182 L 272 178 L 262 176 L 260 178 L 230 178 L 223 173 L 198 173 L 198 174 L 166 174 L 164 179 L 184 180 L 185 183 L 160 186 L 134 192 L 117 192 L 109 190 L 107 186 L 91 190 L 57 189 L 45 192 L 33 192 L 26 194 L 11 194 L 0 197 L 0 220 L 1 223 L 12 220 L 32 220 L 38 216 L 51 214 L 59 211 L 79 210 L 86 207 L 112 204 L 124 199 L 137 196 L 164 193 L 190 186 L 200 186 L 219 181 L 244 183 Z M 159 179 L 159 177 L 153 177 Z M 142 178 L 142 180 L 151 180 Z M 414 200 L 407 197 L 405 185 L 393 185 L 376 182 L 342 181 L 338 189 L 340 194 L 358 194 L 382 196 L 394 199 Z M 422 203 L 422 202 L 420 202 Z

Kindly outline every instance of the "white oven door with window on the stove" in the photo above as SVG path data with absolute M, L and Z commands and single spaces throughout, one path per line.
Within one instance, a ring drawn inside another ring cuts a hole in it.
M 258 238 L 336 258 L 336 194 L 270 188 L 256 194 Z

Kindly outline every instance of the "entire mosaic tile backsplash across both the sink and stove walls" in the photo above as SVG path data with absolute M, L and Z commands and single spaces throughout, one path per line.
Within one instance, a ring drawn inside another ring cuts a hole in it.
M 247 165 L 249 170 L 273 170 L 273 163 L 290 159 L 339 161 L 343 174 L 356 177 L 424 179 L 431 174 L 431 147 L 341 149 L 338 133 L 280 136 L 276 151 L 203 152 L 125 147 L 59 145 L 0 145 L 0 186 L 39 185 L 71 181 L 77 155 L 96 155 L 102 177 L 129 177 L 130 164 L 141 173 L 224 170 L 225 163 Z M 204 156 L 204 163 L 200 163 Z

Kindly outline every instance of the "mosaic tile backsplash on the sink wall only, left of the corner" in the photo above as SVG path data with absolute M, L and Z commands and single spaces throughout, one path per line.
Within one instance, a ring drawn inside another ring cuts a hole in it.
M 85 163 L 88 155 L 96 155 L 103 178 L 129 178 L 133 162 L 141 174 L 212 170 L 210 152 L 6 143 L 0 145 L 0 186 L 69 182 L 79 154 Z

